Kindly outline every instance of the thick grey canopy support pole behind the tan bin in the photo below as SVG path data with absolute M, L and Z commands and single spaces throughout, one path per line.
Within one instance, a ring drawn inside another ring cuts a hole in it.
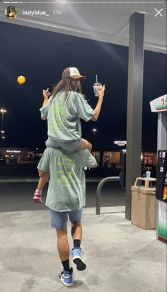
M 125 218 L 131 220 L 131 186 L 141 176 L 142 101 L 144 67 L 144 14 L 129 18 L 129 65 L 127 94 L 127 165 Z

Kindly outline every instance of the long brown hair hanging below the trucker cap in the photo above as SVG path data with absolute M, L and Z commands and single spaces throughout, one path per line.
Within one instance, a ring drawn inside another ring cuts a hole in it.
M 56 96 L 59 91 L 64 91 L 64 98 L 67 100 L 67 97 L 69 95 L 69 91 L 74 91 L 71 86 L 71 78 L 64 78 L 60 80 L 53 88 L 52 90 L 52 96 Z M 79 84 L 79 88 L 74 91 L 74 92 L 79 92 L 81 94 L 81 84 Z

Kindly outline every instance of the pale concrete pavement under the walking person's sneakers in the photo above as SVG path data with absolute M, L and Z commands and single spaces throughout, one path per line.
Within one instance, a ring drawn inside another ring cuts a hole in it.
M 125 207 L 84 208 L 85 271 L 74 268 L 75 292 L 166 292 L 166 245 L 155 230 L 142 230 L 125 219 Z M 57 280 L 62 264 L 48 210 L 0 213 L 0 290 L 67 291 Z M 68 226 L 70 235 L 70 225 Z M 69 240 L 70 248 L 73 246 Z

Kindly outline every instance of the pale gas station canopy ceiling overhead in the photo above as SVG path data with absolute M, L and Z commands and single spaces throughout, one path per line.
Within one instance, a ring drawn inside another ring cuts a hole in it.
M 14 20 L 5 16 L 10 5 L 18 9 Z M 1 1 L 0 11 L 7 23 L 125 46 L 129 17 L 144 13 L 144 49 L 166 53 L 166 1 Z

